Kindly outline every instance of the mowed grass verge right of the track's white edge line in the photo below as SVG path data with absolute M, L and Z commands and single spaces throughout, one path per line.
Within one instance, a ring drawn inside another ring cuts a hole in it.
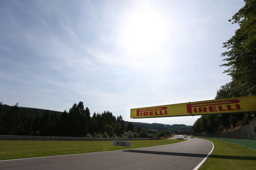
M 202 138 L 205 139 L 205 138 Z M 214 151 L 200 166 L 202 169 L 255 169 L 256 151 L 229 142 L 206 139 L 214 143 Z

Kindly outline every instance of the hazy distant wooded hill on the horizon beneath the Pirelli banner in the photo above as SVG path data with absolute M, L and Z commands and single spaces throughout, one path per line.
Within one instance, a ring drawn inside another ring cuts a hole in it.
M 129 122 L 124 121 L 125 125 L 129 124 Z M 161 131 L 161 130 L 169 130 L 169 131 L 192 131 L 192 126 L 186 126 L 183 124 L 174 124 L 174 125 L 165 125 L 165 124 L 147 124 L 147 123 L 140 123 L 140 122 L 132 122 L 133 126 L 136 126 L 138 128 L 145 128 L 145 129 L 151 129 L 155 131 Z

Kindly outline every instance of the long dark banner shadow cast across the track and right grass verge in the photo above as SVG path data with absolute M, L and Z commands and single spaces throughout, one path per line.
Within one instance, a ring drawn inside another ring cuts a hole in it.
M 158 151 L 142 151 L 142 150 L 124 150 L 123 152 L 143 153 L 143 154 L 157 154 L 157 155 L 173 155 L 173 156 L 187 156 L 187 157 L 201 157 L 205 158 L 207 154 L 190 154 L 179 152 L 158 152 Z M 210 158 L 220 159 L 237 159 L 237 160 L 256 160 L 256 156 L 230 156 L 230 155 L 210 155 Z

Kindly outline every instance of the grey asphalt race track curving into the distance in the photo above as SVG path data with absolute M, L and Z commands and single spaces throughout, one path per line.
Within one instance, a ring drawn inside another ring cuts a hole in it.
M 208 140 L 188 139 L 130 150 L 6 160 L 0 161 L 0 169 L 194 169 L 213 146 Z

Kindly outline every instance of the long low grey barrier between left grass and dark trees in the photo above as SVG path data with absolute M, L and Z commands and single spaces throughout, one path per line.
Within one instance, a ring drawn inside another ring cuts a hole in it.
M 150 139 L 151 138 L 98 138 L 98 137 L 0 135 L 0 140 L 150 140 Z

